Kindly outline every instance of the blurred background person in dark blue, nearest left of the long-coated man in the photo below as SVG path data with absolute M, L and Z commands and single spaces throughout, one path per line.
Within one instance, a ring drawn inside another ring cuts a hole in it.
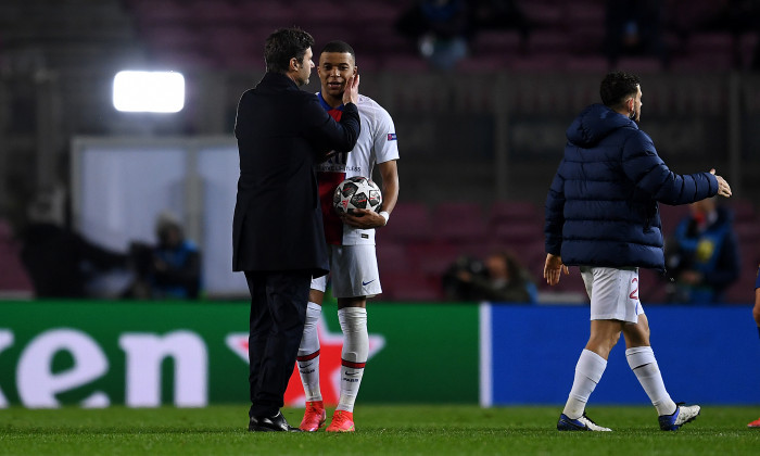
M 137 278 L 127 297 L 195 300 L 201 291 L 201 254 L 185 239 L 179 220 L 170 213 L 159 215 L 156 245 L 132 243 Z

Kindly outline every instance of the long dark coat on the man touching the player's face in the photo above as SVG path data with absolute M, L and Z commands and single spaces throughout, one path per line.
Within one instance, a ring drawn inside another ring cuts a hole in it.
M 328 152 L 349 152 L 359 135 L 356 105 L 341 122 L 314 93 L 289 77 L 267 73 L 243 93 L 235 135 L 240 179 L 232 223 L 232 270 L 328 273 L 314 165 Z

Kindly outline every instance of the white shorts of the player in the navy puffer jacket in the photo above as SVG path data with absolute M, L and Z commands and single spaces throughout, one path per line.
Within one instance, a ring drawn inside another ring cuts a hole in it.
M 591 299 L 592 320 L 638 322 L 644 314 L 638 301 L 638 268 L 581 266 L 581 277 Z

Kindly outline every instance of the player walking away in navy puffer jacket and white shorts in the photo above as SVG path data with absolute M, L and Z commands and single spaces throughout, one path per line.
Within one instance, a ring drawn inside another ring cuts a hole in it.
M 731 197 L 731 187 L 714 169 L 677 175 L 666 166 L 651 138 L 638 129 L 637 76 L 610 73 L 600 94 L 604 104 L 586 107 L 568 128 L 565 156 L 546 198 L 544 278 L 555 286 L 569 265 L 580 266 L 591 300 L 591 337 L 557 429 L 610 431 L 592 421 L 585 407 L 622 333 L 629 366 L 657 409 L 660 429 L 674 431 L 700 408 L 676 404 L 666 390 L 638 301 L 638 268 L 664 269 L 658 202 Z

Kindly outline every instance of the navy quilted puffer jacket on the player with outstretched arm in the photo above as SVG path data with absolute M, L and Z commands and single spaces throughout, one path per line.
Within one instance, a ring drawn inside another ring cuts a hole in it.
M 677 175 L 635 122 L 593 104 L 567 130 L 546 198 L 546 252 L 566 265 L 664 269 L 657 203 L 718 193 L 710 173 Z

